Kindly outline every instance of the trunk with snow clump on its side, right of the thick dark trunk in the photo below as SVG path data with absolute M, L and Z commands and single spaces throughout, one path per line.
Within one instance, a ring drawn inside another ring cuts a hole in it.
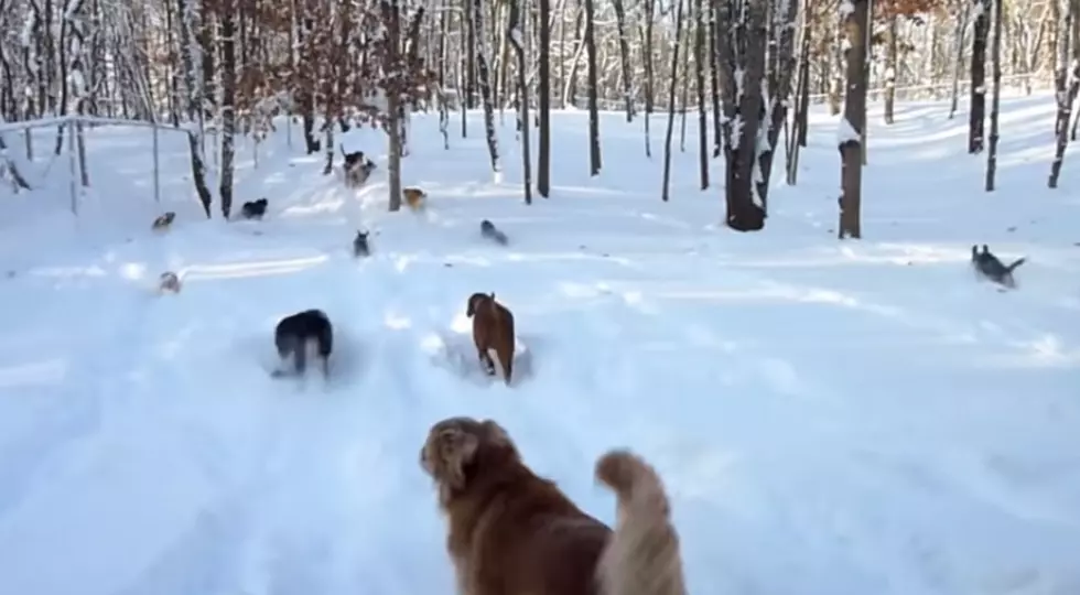
M 842 4 L 843 6 L 843 4 Z M 867 0 L 852 0 L 844 14 L 847 44 L 847 86 L 844 95 L 844 118 L 839 134 L 840 225 L 838 237 L 862 238 L 862 131 L 866 126 L 866 35 L 870 28 Z

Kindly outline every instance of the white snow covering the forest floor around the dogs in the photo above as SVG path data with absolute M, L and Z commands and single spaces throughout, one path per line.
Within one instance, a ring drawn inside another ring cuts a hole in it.
M 182 137 L 162 137 L 155 205 L 149 132 L 96 129 L 77 219 L 64 159 L 32 172 L 44 191 L 0 195 L 0 593 L 452 593 L 418 453 L 469 414 L 607 521 L 595 457 L 646 455 L 694 595 L 1076 595 L 1080 155 L 1045 190 L 1052 112 L 1003 102 L 986 194 L 963 113 L 909 104 L 886 128 L 872 110 L 866 239 L 843 242 L 823 112 L 799 186 L 778 169 L 750 235 L 696 190 L 695 118 L 662 204 L 662 117 L 649 161 L 640 121 L 605 115 L 590 178 L 587 116 L 555 113 L 553 196 L 525 207 L 509 113 L 503 185 L 478 113 L 464 140 L 453 118 L 449 151 L 418 117 L 403 170 L 425 216 L 385 213 L 376 133 L 354 192 L 279 131 L 258 169 L 249 142 L 239 160 L 237 198 L 268 197 L 267 218 L 230 224 L 201 217 Z M 1018 290 L 973 278 L 976 242 L 1027 257 Z M 164 270 L 179 295 L 154 295 Z M 475 291 L 516 315 L 510 388 L 475 369 Z M 268 375 L 273 325 L 307 307 L 336 325 L 330 386 Z

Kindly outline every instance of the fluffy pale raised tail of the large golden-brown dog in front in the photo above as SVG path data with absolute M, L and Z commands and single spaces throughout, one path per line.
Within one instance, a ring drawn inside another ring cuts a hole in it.
M 618 500 L 615 533 L 597 569 L 604 595 L 685 595 L 679 534 L 656 469 L 616 450 L 596 462 L 596 479 Z

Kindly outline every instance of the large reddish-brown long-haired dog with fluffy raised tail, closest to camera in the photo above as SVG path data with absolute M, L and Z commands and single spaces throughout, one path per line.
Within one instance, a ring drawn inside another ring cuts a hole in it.
M 439 486 L 462 595 L 685 595 L 663 488 L 629 453 L 596 468 L 618 498 L 614 532 L 533 474 L 494 421 L 434 424 L 420 463 Z

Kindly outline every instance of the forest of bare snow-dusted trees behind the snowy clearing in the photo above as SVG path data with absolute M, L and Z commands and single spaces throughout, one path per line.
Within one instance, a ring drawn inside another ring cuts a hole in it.
M 281 115 L 302 120 L 304 149 L 325 154 L 326 173 L 337 131 L 381 127 L 391 210 L 411 112 L 438 111 L 447 149 L 455 136 L 484 134 L 496 176 L 496 118 L 509 112 L 526 203 L 533 190 L 550 195 L 552 109 L 588 111 L 592 175 L 604 170 L 598 111 L 639 120 L 642 151 L 663 161 L 663 201 L 674 131 L 687 150 L 685 121 L 696 118 L 700 187 L 722 193 L 730 228 L 752 231 L 766 223 L 778 151 L 796 184 L 807 112 L 827 104 L 843 118 L 841 238 L 861 237 L 867 101 L 884 102 L 875 126 L 893 125 L 905 99 L 950 98 L 953 115 L 965 104 L 986 191 L 1003 85 L 1055 90 L 1049 187 L 1077 134 L 1080 0 L 0 0 L 0 150 L 17 185 L 29 187 L 17 144 L 28 158 L 67 144 L 85 160 L 84 126 L 147 122 L 188 136 L 207 217 L 215 205 L 226 218 L 233 209 L 236 139 L 264 138 Z M 469 130 L 462 108 L 482 109 L 486 130 Z M 666 115 L 663 129 L 650 130 L 651 115 Z M 54 147 L 12 133 L 50 118 L 61 118 Z

